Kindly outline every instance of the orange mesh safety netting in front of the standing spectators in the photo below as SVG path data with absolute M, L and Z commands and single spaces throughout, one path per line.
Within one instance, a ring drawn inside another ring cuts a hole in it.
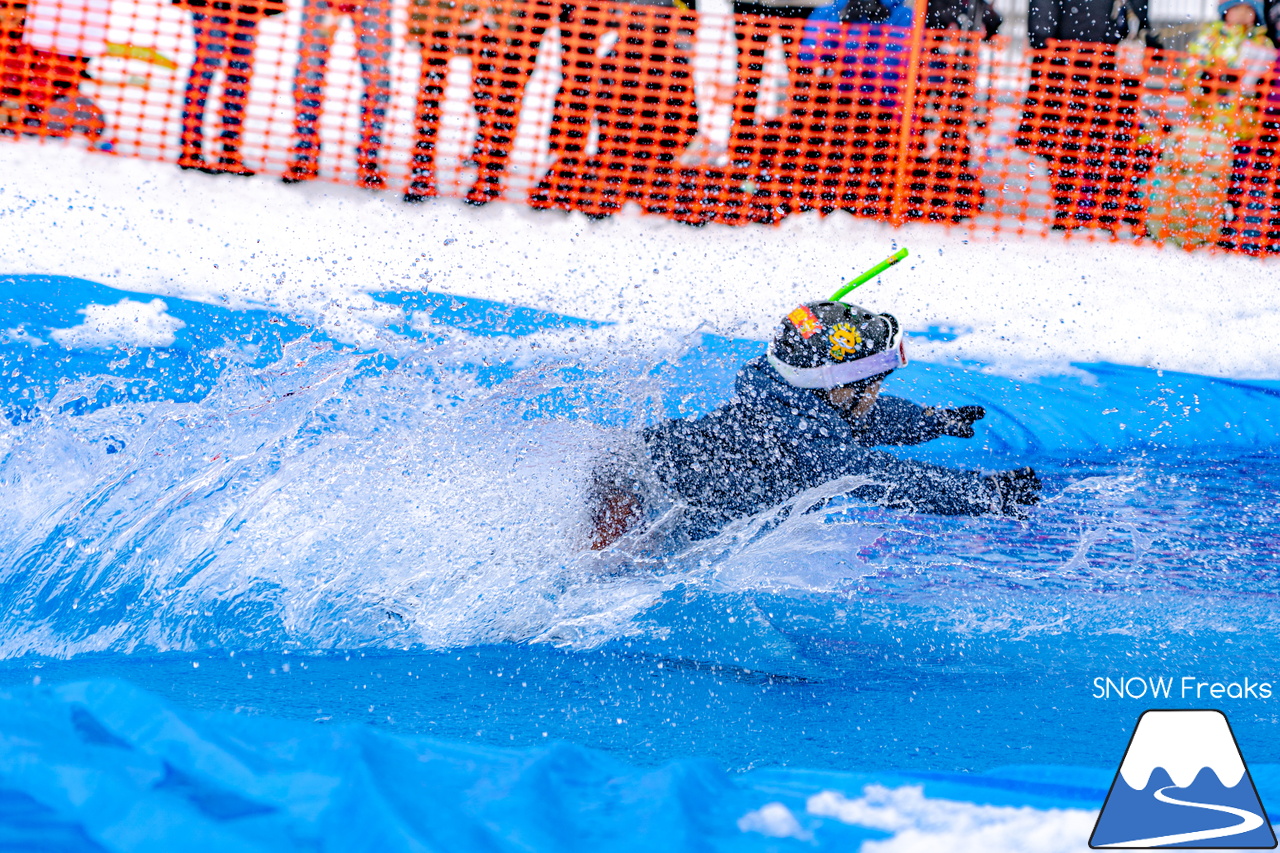
M 1280 251 L 1274 51 L 550 0 L 0 0 L 0 136 L 605 216 Z

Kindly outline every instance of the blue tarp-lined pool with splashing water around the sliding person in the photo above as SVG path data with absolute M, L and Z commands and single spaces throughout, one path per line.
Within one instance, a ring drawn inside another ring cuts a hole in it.
M 892 833 L 808 797 L 1097 809 L 1147 707 L 1222 708 L 1280 802 L 1280 689 L 1194 695 L 1280 685 L 1274 384 L 914 362 L 888 393 L 988 416 L 902 452 L 1034 465 L 1028 520 L 831 494 L 591 555 L 591 461 L 763 343 L 374 298 L 351 333 L 0 278 L 0 838 L 852 849 Z M 1132 676 L 1193 694 L 1096 698 Z M 769 802 L 804 838 L 739 826 Z

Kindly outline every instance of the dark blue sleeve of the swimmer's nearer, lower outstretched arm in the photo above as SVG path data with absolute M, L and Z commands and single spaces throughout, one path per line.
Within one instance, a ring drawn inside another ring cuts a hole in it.
M 996 482 L 987 474 L 902 460 L 884 451 L 864 451 L 864 455 L 861 461 L 869 464 L 868 470 L 849 471 L 874 480 L 850 492 L 861 501 L 934 515 L 1000 512 Z

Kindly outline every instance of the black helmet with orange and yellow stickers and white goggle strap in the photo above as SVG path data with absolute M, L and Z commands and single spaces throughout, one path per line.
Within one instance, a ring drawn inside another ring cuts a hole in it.
M 782 320 L 769 345 L 769 364 L 797 388 L 838 388 L 906 365 L 906 350 L 891 314 L 809 302 Z

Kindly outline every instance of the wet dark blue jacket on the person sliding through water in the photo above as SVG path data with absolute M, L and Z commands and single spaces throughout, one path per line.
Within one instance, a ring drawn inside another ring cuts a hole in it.
M 851 426 L 812 391 L 794 388 L 763 357 L 737 375 L 732 402 L 698 420 L 644 432 L 663 484 L 691 507 L 694 538 L 849 475 L 876 480 L 852 494 L 915 512 L 998 512 L 991 476 L 901 460 L 878 444 L 919 444 L 942 434 L 929 410 L 882 396 Z

